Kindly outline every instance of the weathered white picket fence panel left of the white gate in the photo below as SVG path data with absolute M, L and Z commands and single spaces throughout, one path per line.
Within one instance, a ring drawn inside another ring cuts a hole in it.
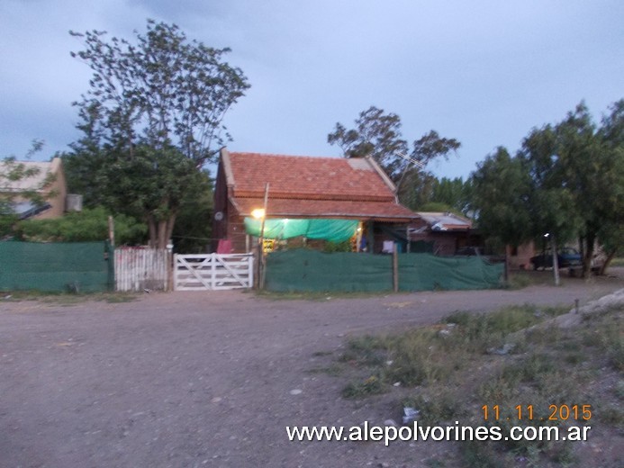
M 171 254 L 165 248 L 115 248 L 117 291 L 167 291 Z

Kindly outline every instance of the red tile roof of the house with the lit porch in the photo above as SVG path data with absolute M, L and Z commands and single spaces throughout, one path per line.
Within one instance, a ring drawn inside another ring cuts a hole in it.
M 263 205 L 267 216 L 406 222 L 393 183 L 369 158 L 297 157 L 222 150 L 229 198 L 242 215 Z

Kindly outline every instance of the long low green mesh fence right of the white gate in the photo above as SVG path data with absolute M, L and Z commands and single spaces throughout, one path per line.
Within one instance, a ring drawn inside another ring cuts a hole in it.
M 481 257 L 399 255 L 399 290 L 488 289 L 501 286 L 502 264 Z M 276 292 L 393 290 L 392 256 L 285 250 L 267 257 L 266 288 Z

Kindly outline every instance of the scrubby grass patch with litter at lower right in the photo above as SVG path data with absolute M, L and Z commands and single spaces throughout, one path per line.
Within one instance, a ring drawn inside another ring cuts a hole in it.
M 384 401 L 396 395 L 397 412 L 420 410 L 419 422 L 429 426 L 460 421 L 473 428 L 498 426 L 505 434 L 513 426 L 556 426 L 565 433 L 588 424 L 617 432 L 624 423 L 622 311 L 592 314 L 573 329 L 549 321 L 567 311 L 523 305 L 489 314 L 458 312 L 430 327 L 350 338 L 336 361 L 350 372 L 342 396 L 365 400 L 389 392 Z M 500 409 L 497 420 L 494 405 Z M 551 405 L 591 405 L 592 419 L 549 420 Z M 488 420 L 484 406 L 491 411 Z M 582 445 L 554 441 L 475 441 L 456 447 L 466 466 L 587 463 Z

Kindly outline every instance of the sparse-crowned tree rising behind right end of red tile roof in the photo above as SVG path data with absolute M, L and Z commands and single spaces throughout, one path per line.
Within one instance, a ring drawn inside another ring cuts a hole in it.
M 360 112 L 355 128 L 336 123 L 327 136 L 331 145 L 338 145 L 344 157 L 372 157 L 397 184 L 402 202 L 416 208 L 422 191 L 432 184 L 432 176 L 421 168 L 436 157 L 445 157 L 461 146 L 457 139 L 439 136 L 435 130 L 425 133 L 410 144 L 402 138 L 401 118 L 375 106 Z M 418 164 L 411 163 L 417 161 Z M 416 193 L 415 193 L 416 192 Z

